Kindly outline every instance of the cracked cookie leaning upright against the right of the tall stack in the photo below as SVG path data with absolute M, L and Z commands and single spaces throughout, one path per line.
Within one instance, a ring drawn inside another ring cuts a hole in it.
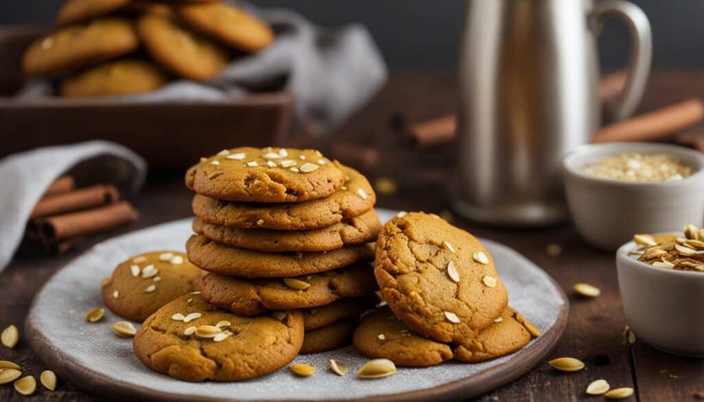
M 394 314 L 436 341 L 476 337 L 508 303 L 482 243 L 436 215 L 408 213 L 386 222 L 374 273 Z

